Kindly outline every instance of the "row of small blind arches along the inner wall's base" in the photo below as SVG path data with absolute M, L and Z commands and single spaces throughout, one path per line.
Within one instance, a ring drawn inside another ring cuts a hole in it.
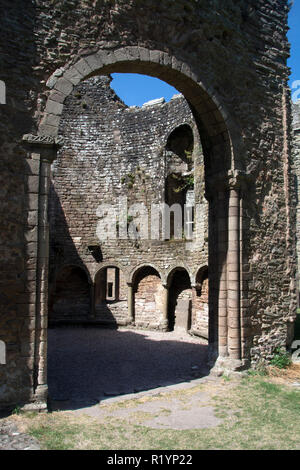
M 152 266 L 138 268 L 131 282 L 116 266 L 100 269 L 91 285 L 82 268 L 64 267 L 51 294 L 50 325 L 74 322 L 191 332 L 208 339 L 208 270 L 192 287 L 185 268 L 174 268 L 166 283 Z

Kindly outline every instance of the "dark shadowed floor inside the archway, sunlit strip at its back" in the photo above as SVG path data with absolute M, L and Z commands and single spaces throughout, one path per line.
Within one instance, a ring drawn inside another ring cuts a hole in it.
M 203 377 L 204 340 L 172 333 L 55 328 L 48 330 L 50 409 L 80 409 L 117 395 Z

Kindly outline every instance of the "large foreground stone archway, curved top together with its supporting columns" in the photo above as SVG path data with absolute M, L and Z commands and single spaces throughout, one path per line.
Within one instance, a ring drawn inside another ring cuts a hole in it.
M 229 359 L 230 367 L 240 368 L 248 360 L 247 352 L 241 349 L 240 329 L 240 249 L 241 198 L 246 176 L 240 171 L 240 142 L 236 137 L 236 126 L 227 117 L 224 108 L 213 99 L 195 72 L 186 63 L 176 60 L 165 52 L 151 51 L 139 47 L 125 47 L 114 51 L 100 50 L 96 54 L 82 57 L 76 63 L 55 72 L 47 82 L 51 89 L 39 126 L 39 135 L 24 136 L 24 143 L 33 155 L 39 155 L 40 178 L 47 193 L 50 164 L 62 142 L 57 138 L 60 115 L 65 98 L 80 81 L 98 74 L 112 72 L 137 72 L 157 76 L 181 91 L 190 103 L 199 128 L 203 145 L 206 173 L 206 194 L 210 210 L 210 272 L 212 293 L 210 305 L 209 344 L 212 356 Z M 226 121 L 223 117 L 226 116 Z M 237 162 L 235 163 L 235 160 Z M 43 214 L 47 202 L 41 200 Z M 42 214 L 41 214 L 42 215 Z M 230 226 L 228 221 L 230 220 Z M 40 220 L 38 250 L 47 249 L 48 225 Z M 44 234 L 44 235 L 43 235 Z M 217 246 L 217 250 L 215 247 Z M 41 258 L 42 263 L 46 258 Z M 43 268 L 41 268 L 43 271 Z M 233 276 L 231 276 L 233 273 Z M 227 278 L 230 283 L 227 284 Z M 37 275 L 41 286 L 41 277 Z M 38 288 L 39 289 L 39 288 Z M 167 289 L 165 289 L 167 291 Z M 166 293 L 163 294 L 167 296 Z M 128 295 L 128 304 L 132 304 Z M 227 302 L 228 300 L 228 302 Z M 163 302 L 163 305 L 167 304 Z M 41 312 L 46 313 L 46 309 Z M 44 315 L 45 313 L 41 313 Z M 162 317 L 166 317 L 163 312 Z M 230 319 L 227 322 L 227 319 Z M 165 319 L 166 320 L 166 319 Z M 161 326 L 165 328 L 165 326 Z M 41 362 L 44 357 L 41 355 Z M 227 359 L 226 359 L 227 360 Z M 46 376 L 41 371 L 41 385 Z M 38 386 L 37 386 L 38 387 Z

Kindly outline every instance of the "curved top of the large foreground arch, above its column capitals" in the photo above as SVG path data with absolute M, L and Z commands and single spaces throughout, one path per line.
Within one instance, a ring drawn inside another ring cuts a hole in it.
M 63 103 L 74 86 L 92 76 L 114 72 L 147 74 L 174 86 L 187 99 L 196 119 L 207 171 L 219 173 L 241 169 L 242 141 L 238 125 L 229 116 L 218 93 L 210 84 L 204 83 L 187 63 L 166 52 L 143 47 L 101 49 L 56 70 L 47 81 L 51 91 L 39 125 L 39 135 L 58 135 Z

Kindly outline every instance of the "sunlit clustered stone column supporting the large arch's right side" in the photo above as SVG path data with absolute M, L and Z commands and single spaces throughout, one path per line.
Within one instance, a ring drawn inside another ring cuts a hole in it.
M 214 291 L 212 294 L 210 290 L 209 295 L 210 308 L 214 305 L 217 308 L 218 360 L 216 368 L 222 371 L 239 370 L 242 366 L 242 359 L 245 359 L 242 358 L 241 351 L 243 250 L 240 225 L 243 220 L 241 194 L 243 187 L 247 186 L 248 179 L 249 175 L 238 170 L 230 170 L 211 177 L 208 185 L 210 205 L 214 207 L 214 217 L 217 218 L 216 223 L 213 221 L 216 231 L 213 234 L 213 240 L 217 244 L 217 253 L 213 248 L 212 252 L 215 256 L 210 257 L 210 265 L 216 263 L 217 267 L 209 268 L 210 273 L 214 273 Z M 211 295 L 217 296 L 217 302 L 211 301 Z

